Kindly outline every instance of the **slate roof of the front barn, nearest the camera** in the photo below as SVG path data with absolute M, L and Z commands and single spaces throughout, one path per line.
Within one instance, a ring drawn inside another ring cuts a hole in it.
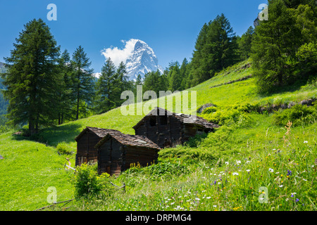
M 118 142 L 122 143 L 125 146 L 139 146 L 144 148 L 152 148 L 152 149 L 161 149 L 156 143 L 151 141 L 150 139 L 147 139 L 145 136 L 139 136 L 139 135 L 130 135 L 130 134 L 113 134 L 108 133 L 106 136 L 104 136 L 103 139 L 101 139 L 94 148 L 98 148 L 101 146 L 105 141 L 108 139 L 113 138 L 116 139 Z

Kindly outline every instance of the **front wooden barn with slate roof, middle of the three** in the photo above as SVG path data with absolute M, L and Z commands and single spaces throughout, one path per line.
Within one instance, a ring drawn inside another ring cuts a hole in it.
M 151 165 L 158 158 L 159 146 L 144 136 L 108 133 L 95 146 L 98 150 L 98 173 L 118 175 L 132 163 Z

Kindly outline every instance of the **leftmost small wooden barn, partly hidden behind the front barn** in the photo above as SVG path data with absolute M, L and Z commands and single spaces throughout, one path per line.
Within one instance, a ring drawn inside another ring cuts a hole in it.
M 94 146 L 96 146 L 106 134 L 121 134 L 121 132 L 97 127 L 86 127 L 80 132 L 75 138 L 75 141 L 77 141 L 76 166 L 82 163 L 97 162 L 97 149 L 94 148 Z

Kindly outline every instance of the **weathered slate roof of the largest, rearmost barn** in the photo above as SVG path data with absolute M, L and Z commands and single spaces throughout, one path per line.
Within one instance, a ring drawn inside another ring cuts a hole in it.
M 210 129 L 213 129 L 215 127 L 219 127 L 218 124 L 213 124 L 212 122 L 209 122 L 209 121 L 205 120 L 202 117 L 198 117 L 198 116 L 194 117 L 193 115 L 187 115 L 187 114 L 183 114 L 183 113 L 172 113 L 172 112 L 170 112 L 170 111 L 168 111 L 168 110 L 166 110 L 164 108 L 156 107 L 153 110 L 151 110 L 146 116 L 144 116 L 142 118 L 142 120 L 140 120 L 132 128 L 133 129 L 137 129 L 151 115 L 162 115 L 162 113 L 160 113 L 159 110 L 162 110 L 162 112 L 164 112 L 163 115 L 176 117 L 176 118 L 178 118 L 178 120 L 182 120 L 182 122 L 185 122 L 185 123 L 188 123 L 188 124 L 196 124 L 198 126 L 205 127 L 205 128 L 210 128 Z

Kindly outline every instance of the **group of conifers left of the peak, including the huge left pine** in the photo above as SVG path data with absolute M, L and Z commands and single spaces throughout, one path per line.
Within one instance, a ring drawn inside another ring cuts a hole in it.
M 1 74 L 12 125 L 28 125 L 30 135 L 43 127 L 104 113 L 122 103 L 120 92 L 132 89 L 125 65 L 115 68 L 108 58 L 99 79 L 82 46 L 72 56 L 51 34 L 42 19 L 31 20 L 20 32 L 6 72 Z M 118 97 L 119 96 L 119 97 Z

